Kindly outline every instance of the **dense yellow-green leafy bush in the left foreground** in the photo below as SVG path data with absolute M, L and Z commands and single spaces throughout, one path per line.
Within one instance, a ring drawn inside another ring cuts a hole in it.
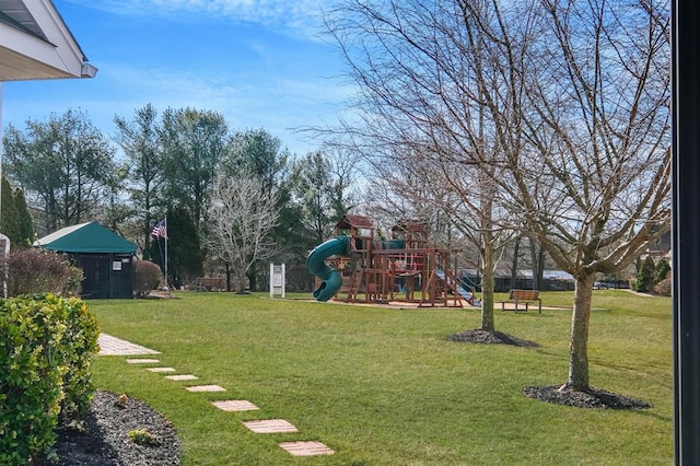
M 0 301 L 0 464 L 50 457 L 59 415 L 85 411 L 97 331 L 75 298 Z

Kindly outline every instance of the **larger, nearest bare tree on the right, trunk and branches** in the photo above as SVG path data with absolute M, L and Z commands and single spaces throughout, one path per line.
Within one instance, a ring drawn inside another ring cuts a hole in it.
M 596 273 L 623 269 L 670 221 L 669 9 L 666 1 L 541 2 L 523 68 L 527 150 L 509 153 L 513 199 L 576 281 L 570 370 L 587 391 Z M 541 164 L 537 180 L 524 159 Z M 541 209 L 541 189 L 559 201 Z M 556 207 L 556 208 L 552 208 Z

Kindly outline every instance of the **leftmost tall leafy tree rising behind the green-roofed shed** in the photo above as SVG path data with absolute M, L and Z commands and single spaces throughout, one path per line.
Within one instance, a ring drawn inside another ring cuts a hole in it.
M 114 149 L 82 112 L 10 125 L 4 143 L 7 171 L 45 212 L 54 231 L 93 218 L 114 171 Z

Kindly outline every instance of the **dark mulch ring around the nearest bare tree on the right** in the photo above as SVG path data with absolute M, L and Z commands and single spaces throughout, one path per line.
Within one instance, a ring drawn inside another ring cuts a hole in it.
M 587 392 L 574 389 L 561 389 L 561 385 L 546 385 L 539 387 L 525 387 L 523 395 L 540 401 L 556 405 L 573 406 L 588 409 L 646 409 L 651 408 L 646 401 L 618 395 L 603 388 L 591 387 Z

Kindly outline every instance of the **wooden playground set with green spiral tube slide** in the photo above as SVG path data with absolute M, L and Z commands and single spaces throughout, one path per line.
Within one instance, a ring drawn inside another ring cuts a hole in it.
M 425 225 L 399 222 L 390 240 L 381 240 L 369 218 L 346 215 L 336 237 L 316 246 L 306 259 L 318 277 L 314 298 L 348 303 L 413 303 L 420 307 L 479 306 L 474 290 L 456 280 L 446 249 L 434 247 Z

